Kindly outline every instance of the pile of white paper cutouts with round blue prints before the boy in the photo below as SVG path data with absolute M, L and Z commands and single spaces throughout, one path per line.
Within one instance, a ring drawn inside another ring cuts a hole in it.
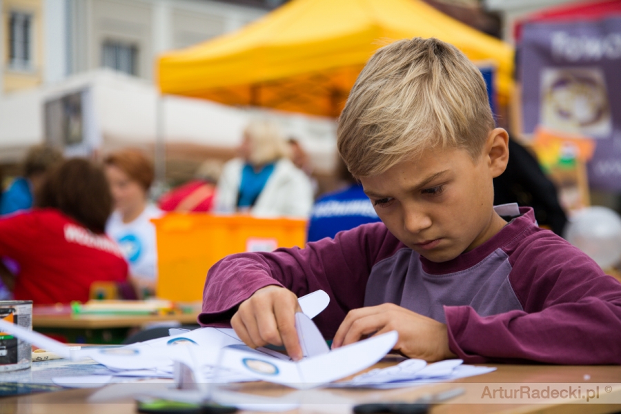
M 70 386 L 72 382 L 88 384 L 89 381 L 92 384 L 104 384 L 107 383 L 106 378 L 110 382 L 112 380 L 108 377 L 117 376 L 170 377 L 174 362 L 174 376 L 178 382 L 185 381 L 188 385 L 189 381 L 203 393 L 206 393 L 213 383 L 252 380 L 265 380 L 299 389 L 322 386 L 375 364 L 391 351 L 397 342 L 398 335 L 392 331 L 330 351 L 317 326 L 311 320 L 326 307 L 329 301 L 328 295 L 320 291 L 299 300 L 300 306 L 306 312 L 295 315 L 295 324 L 304 354 L 304 359 L 299 362 L 290 361 L 286 355 L 270 349 L 252 350 L 230 328 L 178 330 L 177 335 L 130 346 L 82 348 L 77 351 L 70 351 L 65 344 L 8 322 L 0 321 L 0 330 L 63 357 L 72 359 L 92 357 L 105 365 L 108 370 L 96 378 L 82 377 L 82 380 L 78 381 L 74 378 L 58 379 L 58 384 Z M 396 367 L 373 370 L 355 377 L 350 382 L 331 386 L 396 388 L 417 382 L 446 381 L 479 375 L 494 369 L 464 366 L 461 360 L 426 365 L 424 362 L 410 359 Z M 181 380 L 183 375 L 184 380 Z

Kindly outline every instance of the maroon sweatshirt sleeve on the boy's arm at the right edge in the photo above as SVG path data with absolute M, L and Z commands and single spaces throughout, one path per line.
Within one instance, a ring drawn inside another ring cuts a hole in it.
M 481 317 L 445 306 L 451 351 L 470 363 L 621 364 L 621 284 L 561 239 L 514 255 L 509 278 L 524 310 Z

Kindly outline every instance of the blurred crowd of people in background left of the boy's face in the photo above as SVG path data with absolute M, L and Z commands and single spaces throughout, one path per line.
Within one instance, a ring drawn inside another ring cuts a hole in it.
M 379 220 L 344 164 L 342 188 L 317 199 L 312 171 L 302 144 L 266 119 L 246 126 L 237 157 L 204 161 L 159 199 L 150 197 L 154 168 L 141 150 L 95 161 L 31 148 L 0 197 L 0 299 L 86 302 L 94 282 L 113 284 L 126 299 L 154 295 L 151 219 L 167 212 L 308 219 L 308 241 Z

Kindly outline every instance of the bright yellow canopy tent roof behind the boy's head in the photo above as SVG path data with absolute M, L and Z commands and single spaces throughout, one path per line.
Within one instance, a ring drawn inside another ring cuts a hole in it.
M 357 75 L 386 43 L 437 37 L 497 66 L 501 102 L 513 48 L 417 0 L 293 0 L 237 32 L 168 52 L 164 94 L 335 117 Z

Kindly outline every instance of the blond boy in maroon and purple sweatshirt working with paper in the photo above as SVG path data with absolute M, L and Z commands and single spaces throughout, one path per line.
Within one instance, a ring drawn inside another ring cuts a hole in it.
M 509 159 L 480 72 L 456 48 L 412 39 L 378 50 L 339 119 L 339 152 L 382 223 L 306 248 L 243 253 L 209 271 L 202 324 L 299 359 L 297 297 L 333 348 L 396 330 L 408 357 L 621 363 L 621 285 L 538 228 L 531 208 L 493 207 Z

